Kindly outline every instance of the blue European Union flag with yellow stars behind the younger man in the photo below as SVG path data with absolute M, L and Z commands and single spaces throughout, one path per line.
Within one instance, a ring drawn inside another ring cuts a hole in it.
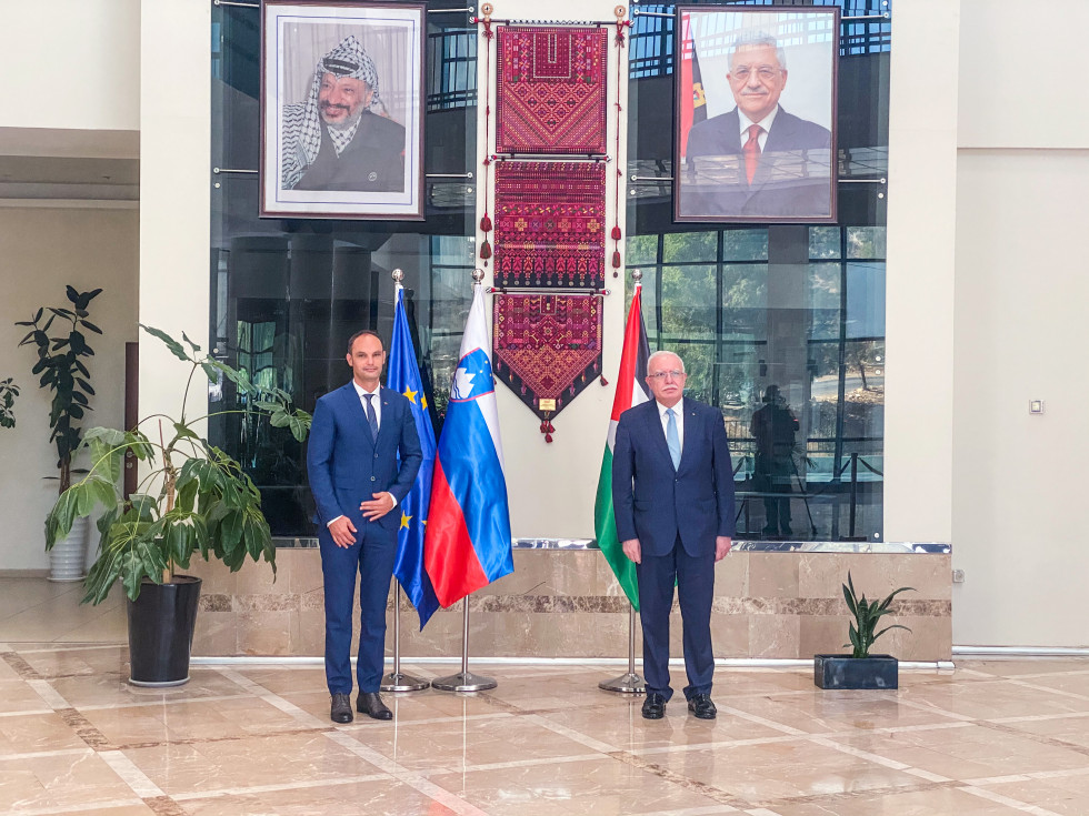
M 416 350 L 409 333 L 408 318 L 404 314 L 404 288 L 397 284 L 397 303 L 393 308 L 393 341 L 390 343 L 389 374 L 387 386 L 399 391 L 409 401 L 416 430 L 420 435 L 423 462 L 416 476 L 416 484 L 404 496 L 399 507 L 401 527 L 397 533 L 397 563 L 393 574 L 401 582 L 404 594 L 409 596 L 420 614 L 420 628 L 439 608 L 434 587 L 423 568 L 423 533 L 431 503 L 431 474 L 434 472 L 434 429 L 427 410 L 427 395 L 420 367 L 416 364 Z

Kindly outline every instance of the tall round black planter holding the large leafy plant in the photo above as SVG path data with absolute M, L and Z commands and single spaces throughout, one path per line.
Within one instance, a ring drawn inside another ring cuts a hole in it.
M 189 651 L 197 626 L 200 578 L 176 575 L 173 584 L 147 578 L 129 601 L 129 683 L 180 686 L 189 682 Z

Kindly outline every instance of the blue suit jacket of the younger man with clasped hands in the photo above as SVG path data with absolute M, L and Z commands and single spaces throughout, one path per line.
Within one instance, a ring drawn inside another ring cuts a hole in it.
M 366 522 L 360 502 L 370 500 L 372 493 L 389 491 L 400 503 L 416 481 L 423 452 L 409 402 L 386 387 L 380 395 L 377 441 L 371 440 L 367 413 L 351 382 L 318 400 L 310 425 L 307 473 L 318 505 L 314 521 L 322 526 L 346 515 L 361 530 Z M 396 531 L 400 514 L 391 511 L 378 523 Z

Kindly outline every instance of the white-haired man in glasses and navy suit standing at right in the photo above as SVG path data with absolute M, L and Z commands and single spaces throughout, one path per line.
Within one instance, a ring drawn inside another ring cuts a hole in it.
M 653 400 L 620 414 L 612 457 L 612 503 L 625 555 L 636 563 L 647 699 L 660 719 L 669 687 L 673 585 L 683 619 L 688 709 L 713 719 L 711 600 L 715 564 L 733 536 L 733 467 L 718 409 L 685 399 L 685 363 L 668 351 L 647 362 Z

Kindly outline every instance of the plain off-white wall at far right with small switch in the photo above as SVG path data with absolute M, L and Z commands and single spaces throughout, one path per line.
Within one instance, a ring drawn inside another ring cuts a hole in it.
M 1089 91 L 1067 81 L 1089 67 L 1089 6 L 1053 3 L 1047 16 L 1046 58 L 1025 62 L 1012 53 L 1023 4 L 963 3 L 952 495 L 953 566 L 966 573 L 953 638 L 966 645 L 1089 645 L 1076 512 L 1089 404 Z M 1047 413 L 1029 415 L 1029 400 Z

